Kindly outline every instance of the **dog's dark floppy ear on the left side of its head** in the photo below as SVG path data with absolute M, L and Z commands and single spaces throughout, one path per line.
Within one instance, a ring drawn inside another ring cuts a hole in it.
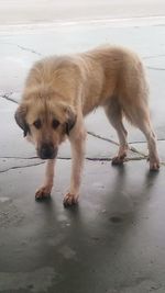
M 23 129 L 23 135 L 26 136 L 28 133 L 30 132 L 30 127 L 25 121 L 25 115 L 26 115 L 26 106 L 24 104 L 19 105 L 14 119 L 18 123 L 18 125 Z

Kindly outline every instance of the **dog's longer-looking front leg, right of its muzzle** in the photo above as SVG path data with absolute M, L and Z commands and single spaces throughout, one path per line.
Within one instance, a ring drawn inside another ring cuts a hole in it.
M 78 202 L 81 172 L 85 159 L 85 140 L 86 131 L 81 127 L 80 131 L 73 131 L 69 136 L 72 145 L 72 178 L 69 192 L 64 198 L 64 205 L 69 206 Z

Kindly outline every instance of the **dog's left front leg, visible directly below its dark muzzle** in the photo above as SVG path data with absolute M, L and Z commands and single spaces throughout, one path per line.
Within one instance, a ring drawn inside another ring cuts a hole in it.
M 54 181 L 54 165 L 55 165 L 55 159 L 47 160 L 44 184 L 36 191 L 35 193 L 36 200 L 43 200 L 50 198 Z

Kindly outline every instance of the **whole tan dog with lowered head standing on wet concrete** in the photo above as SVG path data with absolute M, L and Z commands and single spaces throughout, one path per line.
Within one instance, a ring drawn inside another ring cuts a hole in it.
M 47 159 L 46 176 L 36 199 L 51 194 L 58 146 L 70 140 L 73 166 L 65 205 L 78 200 L 85 157 L 84 116 L 101 105 L 116 128 L 120 147 L 112 164 L 122 164 L 128 153 L 125 116 L 145 135 L 150 169 L 158 170 L 156 140 L 150 120 L 148 89 L 142 61 L 132 52 L 114 46 L 79 55 L 48 57 L 34 64 L 28 76 L 15 120 L 37 155 Z

